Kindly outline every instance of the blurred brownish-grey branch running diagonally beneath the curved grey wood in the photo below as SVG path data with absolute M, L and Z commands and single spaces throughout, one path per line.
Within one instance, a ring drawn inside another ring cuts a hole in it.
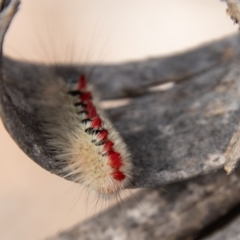
M 239 171 L 143 190 L 136 198 L 48 240 L 193 240 L 240 203 Z M 202 238 L 199 238 L 202 239 Z M 221 238 L 223 239 L 223 238 Z M 230 239 L 230 238 L 228 238 Z

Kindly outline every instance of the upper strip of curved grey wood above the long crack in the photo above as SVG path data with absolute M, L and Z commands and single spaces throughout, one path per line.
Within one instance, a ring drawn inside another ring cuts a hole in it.
M 113 65 L 61 66 L 59 70 L 77 76 L 79 71 L 89 72 L 91 82 L 102 99 L 136 97 L 149 93 L 149 87 L 168 82 L 181 82 L 207 72 L 214 66 L 239 55 L 239 39 L 229 37 L 207 44 L 187 53 L 162 58 L 143 59 Z M 107 87 L 106 87 L 107 86 Z

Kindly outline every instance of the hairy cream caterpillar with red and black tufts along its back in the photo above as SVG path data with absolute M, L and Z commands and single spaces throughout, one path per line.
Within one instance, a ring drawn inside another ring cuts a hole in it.
M 132 164 L 127 147 L 93 97 L 84 74 L 70 83 L 58 78 L 58 100 L 45 108 L 43 131 L 63 177 L 103 197 L 128 186 Z

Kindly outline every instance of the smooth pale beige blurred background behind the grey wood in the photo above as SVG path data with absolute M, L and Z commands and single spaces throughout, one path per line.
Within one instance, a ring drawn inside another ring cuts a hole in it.
M 22 0 L 6 55 L 117 63 L 184 52 L 237 33 L 218 0 Z M 0 239 L 45 239 L 97 214 L 81 187 L 37 166 L 0 124 Z

